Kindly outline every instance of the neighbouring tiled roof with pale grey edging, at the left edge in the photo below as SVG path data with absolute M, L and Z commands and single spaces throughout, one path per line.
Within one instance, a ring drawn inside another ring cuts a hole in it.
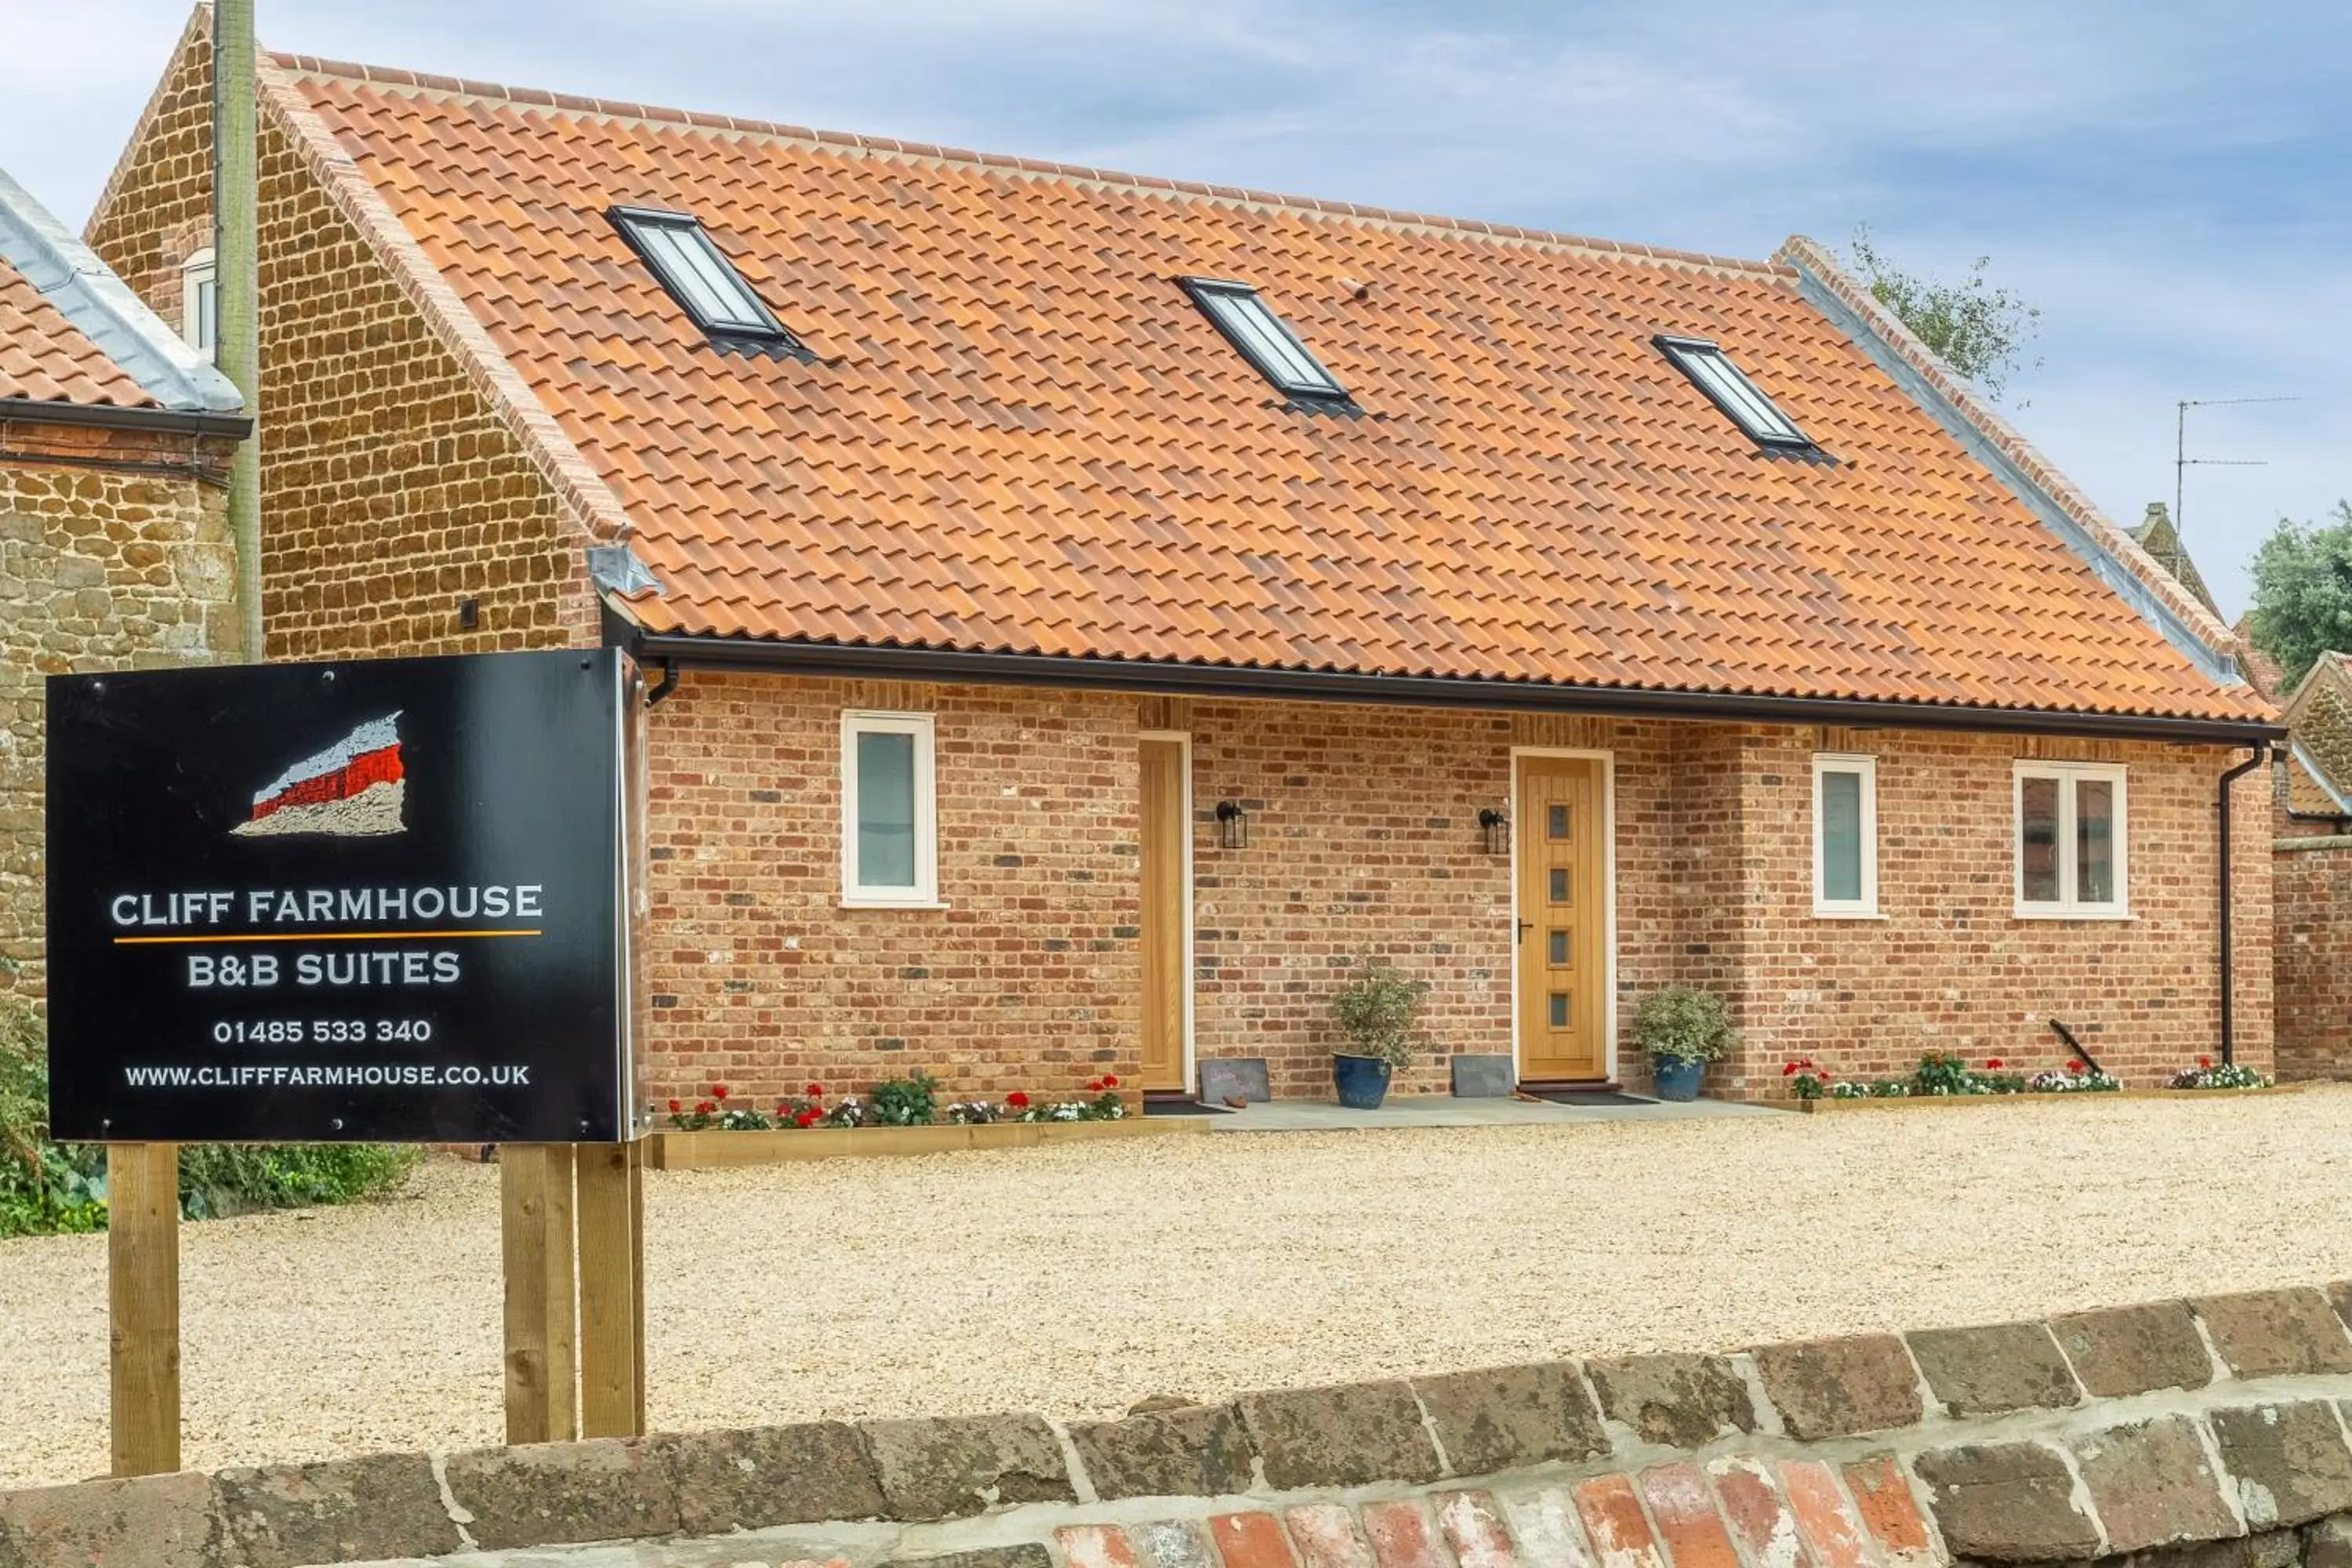
M 228 414 L 235 383 L 0 169 L 0 400 Z

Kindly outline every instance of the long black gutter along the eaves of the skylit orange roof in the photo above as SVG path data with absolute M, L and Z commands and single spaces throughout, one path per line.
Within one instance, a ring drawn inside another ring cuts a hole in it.
M 1301 703 L 1385 703 L 1395 708 L 1484 708 L 1505 712 L 1590 712 L 1621 719 L 1738 719 L 1750 724 L 1849 724 L 1858 729 L 1973 729 L 2013 736 L 2086 736 L 2176 741 L 2192 745 L 2267 745 L 2286 731 L 2256 719 L 2176 719 L 2159 715 L 1971 708 L 1959 703 L 1872 703 L 1863 698 L 1738 696 L 1719 691 L 1642 691 L 1630 686 L 1557 686 L 1543 682 L 1428 675 L 1350 675 L 1334 670 L 1242 670 L 1232 665 L 1065 658 L 1051 654 L 960 654 L 840 642 L 755 642 L 642 632 L 607 611 L 604 639 L 637 663 L 670 661 L 696 670 L 767 670 L 826 677 L 1058 686 L 1070 691 L 1150 691 L 1157 696 L 1240 696 Z

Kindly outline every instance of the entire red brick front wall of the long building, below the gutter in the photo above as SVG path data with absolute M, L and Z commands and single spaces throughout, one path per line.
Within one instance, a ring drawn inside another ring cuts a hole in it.
M 938 715 L 946 912 L 840 910 L 840 710 Z M 1350 705 L 1174 703 L 981 686 L 691 675 L 654 715 L 654 1037 L 663 1093 L 931 1067 L 957 1091 L 1136 1072 L 1138 729 L 1192 736 L 1195 1051 L 1329 1093 L 1329 999 L 1357 954 L 1430 983 L 1430 1051 L 1510 1048 L 1510 858 L 1477 811 L 1515 745 L 1616 752 L 1621 1025 L 1668 980 L 1722 992 L 1740 1046 L 1710 1093 L 1780 1063 L 1905 1072 L 1924 1051 L 2056 1067 L 2070 1023 L 2129 1081 L 2213 1051 L 2213 780 L 2161 745 L 1611 724 Z M 1811 914 L 1811 755 L 1879 757 L 1884 922 Z M 2131 922 L 2011 917 L 2011 762 L 2131 769 Z M 2239 1051 L 2270 1063 L 2263 780 L 2244 792 Z M 1249 809 L 1218 849 L 1216 802 Z M 1646 1084 L 1639 1053 L 1621 1077 Z

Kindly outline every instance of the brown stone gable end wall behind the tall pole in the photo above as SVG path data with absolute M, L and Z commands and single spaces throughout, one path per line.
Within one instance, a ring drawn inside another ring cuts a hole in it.
M 191 28 L 89 226 L 169 322 L 179 263 L 212 242 L 209 94 L 209 40 Z M 555 491 L 268 110 L 259 150 L 270 658 L 593 644 Z

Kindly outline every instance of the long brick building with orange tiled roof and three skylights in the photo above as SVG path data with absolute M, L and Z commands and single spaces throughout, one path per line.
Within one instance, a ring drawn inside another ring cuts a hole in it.
M 207 71 L 92 221 L 158 303 Z M 1717 1093 L 2051 1018 L 2270 1063 L 2232 632 L 1804 240 L 287 54 L 261 106 L 270 654 L 647 663 L 668 1086 L 1322 1093 L 1357 954 L 1430 985 L 1406 1088 L 1642 1084 L 1672 980 Z

